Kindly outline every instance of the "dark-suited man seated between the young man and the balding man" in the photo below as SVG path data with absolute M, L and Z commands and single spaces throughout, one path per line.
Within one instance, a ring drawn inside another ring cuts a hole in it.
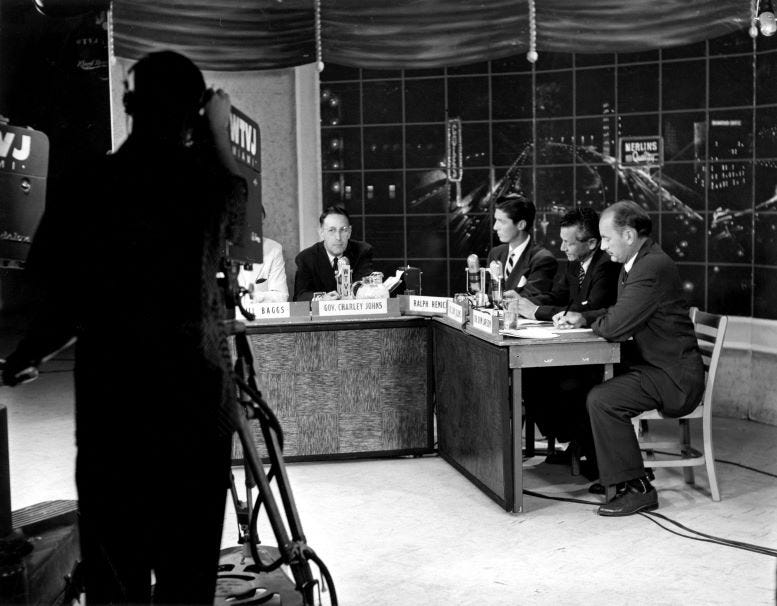
M 604 309 L 615 303 L 621 266 L 599 248 L 599 215 L 591 208 L 574 209 L 561 219 L 561 250 L 567 256 L 566 271 L 550 293 L 518 297 L 518 312 L 524 318 L 551 320 L 567 309 Z M 543 435 L 571 442 L 568 450 L 585 456 L 584 469 L 592 479 L 596 463 L 585 399 L 602 382 L 601 366 L 532 368 L 525 371 L 524 404 Z M 566 455 L 566 453 L 565 453 Z M 548 462 L 566 462 L 568 456 L 548 457 Z

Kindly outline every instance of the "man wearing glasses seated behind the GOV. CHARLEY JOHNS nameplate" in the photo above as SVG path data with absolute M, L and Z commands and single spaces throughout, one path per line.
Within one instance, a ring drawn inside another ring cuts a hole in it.
M 297 255 L 294 276 L 294 301 L 310 301 L 313 293 L 325 292 L 337 297 L 335 271 L 342 257 L 351 265 L 354 281 L 372 273 L 372 246 L 351 240 L 351 218 L 344 208 L 329 206 L 318 219 L 321 241 Z

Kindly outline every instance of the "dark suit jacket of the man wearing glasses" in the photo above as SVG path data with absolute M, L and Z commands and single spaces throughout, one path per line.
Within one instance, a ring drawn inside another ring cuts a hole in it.
M 372 246 L 366 242 L 349 240 L 343 256 L 351 262 L 353 280 L 360 280 L 372 273 Z M 326 254 L 323 242 L 316 242 L 294 259 L 297 273 L 294 276 L 294 301 L 310 301 L 315 292 L 337 290 L 334 270 Z

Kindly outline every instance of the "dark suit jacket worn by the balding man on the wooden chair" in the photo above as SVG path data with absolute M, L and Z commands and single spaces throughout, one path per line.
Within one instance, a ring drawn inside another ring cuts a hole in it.
M 622 361 L 640 371 L 666 415 L 687 414 L 704 391 L 704 366 L 677 266 L 648 238 L 618 282 L 615 305 L 583 316 L 597 335 L 624 342 Z

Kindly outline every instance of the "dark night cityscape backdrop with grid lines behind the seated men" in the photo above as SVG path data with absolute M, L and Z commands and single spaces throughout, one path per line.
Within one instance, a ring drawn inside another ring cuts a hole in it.
M 464 286 L 484 258 L 495 188 L 523 191 L 559 259 L 575 205 L 632 199 L 680 267 L 689 303 L 777 318 L 777 41 L 747 32 L 630 54 L 540 53 L 447 69 L 328 64 L 324 204 L 344 205 L 384 273 L 420 267 L 425 294 Z M 446 121 L 460 118 L 460 183 Z M 533 120 L 536 118 L 536 120 Z M 621 137 L 660 136 L 660 166 L 624 167 Z

